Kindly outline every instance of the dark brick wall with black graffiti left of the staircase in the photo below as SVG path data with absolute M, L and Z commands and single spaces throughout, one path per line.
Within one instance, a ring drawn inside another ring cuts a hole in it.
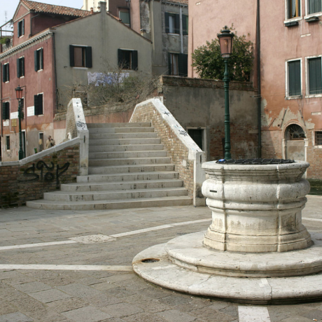
M 61 183 L 76 182 L 79 143 L 60 151 L 51 149 L 52 153 L 23 165 L 20 161 L 4 162 L 0 166 L 0 207 L 22 206 L 29 200 L 42 199 L 43 193 L 59 189 Z M 48 151 L 39 154 L 45 152 Z

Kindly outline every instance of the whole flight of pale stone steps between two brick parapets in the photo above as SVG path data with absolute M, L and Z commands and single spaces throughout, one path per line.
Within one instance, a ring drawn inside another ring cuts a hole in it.
M 192 204 L 151 123 L 90 123 L 88 176 L 27 202 L 40 209 L 125 209 Z

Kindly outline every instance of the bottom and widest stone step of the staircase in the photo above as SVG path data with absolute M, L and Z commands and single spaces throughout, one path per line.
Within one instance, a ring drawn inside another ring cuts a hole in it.
M 27 202 L 27 207 L 36 209 L 55 210 L 100 210 L 100 209 L 129 209 L 146 207 L 174 207 L 188 206 L 193 204 L 192 198 L 183 197 L 163 197 L 163 198 L 140 198 L 137 200 L 97 200 L 92 202 L 53 202 L 50 200 L 36 200 Z

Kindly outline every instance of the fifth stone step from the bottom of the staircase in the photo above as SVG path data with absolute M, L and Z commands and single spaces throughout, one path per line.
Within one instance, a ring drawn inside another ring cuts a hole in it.
M 150 172 L 174 172 L 174 165 L 162 164 L 162 165 L 119 165 L 113 167 L 90 167 L 88 174 L 90 175 L 125 175 L 125 174 L 137 174 L 137 173 L 150 173 Z M 87 176 L 84 176 L 84 178 Z M 77 177 L 80 178 L 80 177 Z M 105 178 L 105 176 L 104 176 Z M 80 182 L 80 181 L 78 181 Z

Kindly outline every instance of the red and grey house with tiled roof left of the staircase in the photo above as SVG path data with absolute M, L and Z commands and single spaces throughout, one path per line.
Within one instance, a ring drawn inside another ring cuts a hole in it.
M 0 53 L 2 161 L 18 160 L 18 85 L 23 90 L 22 148 L 29 156 L 45 148 L 48 135 L 56 143 L 64 139 L 64 122 L 53 120 L 66 108 L 73 84 L 87 85 L 106 62 L 118 68 L 122 57 L 129 59 L 125 73 L 151 73 L 151 41 L 106 13 L 105 4 L 101 12 L 90 13 L 20 1 L 13 46 Z

